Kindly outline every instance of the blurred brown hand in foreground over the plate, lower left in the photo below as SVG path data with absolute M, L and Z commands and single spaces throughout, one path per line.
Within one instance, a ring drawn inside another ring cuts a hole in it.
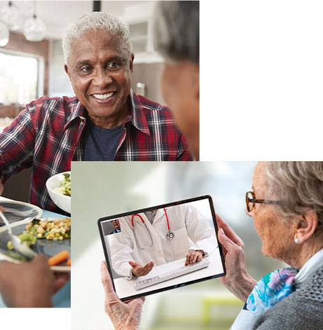
M 0 262 L 0 292 L 8 307 L 51 307 L 51 298 L 69 279 L 54 275 L 45 255 L 26 263 Z

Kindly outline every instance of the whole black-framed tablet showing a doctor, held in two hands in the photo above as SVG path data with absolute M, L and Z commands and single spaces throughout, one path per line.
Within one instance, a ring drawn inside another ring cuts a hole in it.
M 121 301 L 226 274 L 209 195 L 106 216 L 98 226 Z

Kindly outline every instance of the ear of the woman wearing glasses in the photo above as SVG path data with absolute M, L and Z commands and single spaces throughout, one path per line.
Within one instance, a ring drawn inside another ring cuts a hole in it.
M 306 242 L 314 235 L 318 222 L 317 213 L 312 209 L 308 210 L 308 212 L 298 219 L 294 238 L 297 239 L 300 244 Z

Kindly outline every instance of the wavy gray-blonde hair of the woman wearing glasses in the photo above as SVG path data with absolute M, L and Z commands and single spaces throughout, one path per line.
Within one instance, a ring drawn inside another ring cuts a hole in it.
M 285 219 L 312 209 L 323 221 L 323 162 L 266 162 L 265 171 L 266 199 L 280 202 L 276 206 Z

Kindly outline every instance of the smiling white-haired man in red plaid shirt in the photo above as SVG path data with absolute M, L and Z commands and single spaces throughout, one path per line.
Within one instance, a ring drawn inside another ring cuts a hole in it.
M 57 207 L 46 180 L 71 160 L 191 160 L 170 111 L 131 90 L 134 55 L 123 22 L 107 13 L 75 20 L 63 39 L 76 97 L 41 97 L 0 135 L 0 181 L 33 166 L 29 200 Z

